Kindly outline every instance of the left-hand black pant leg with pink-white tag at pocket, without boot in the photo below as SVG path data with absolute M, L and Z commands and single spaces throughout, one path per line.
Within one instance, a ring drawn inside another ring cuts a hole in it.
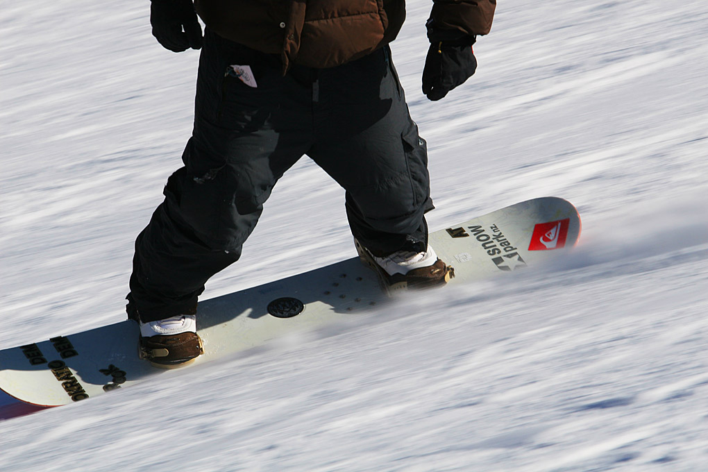
M 258 87 L 229 75 L 232 64 L 249 64 Z M 205 282 L 238 260 L 273 185 L 309 148 L 309 128 L 297 127 L 311 110 L 302 96 L 309 93 L 282 77 L 277 58 L 207 31 L 184 167 L 135 244 L 134 317 L 195 313 Z

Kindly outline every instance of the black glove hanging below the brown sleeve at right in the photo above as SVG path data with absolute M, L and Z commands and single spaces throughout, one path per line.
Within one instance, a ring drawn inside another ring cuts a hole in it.
M 477 69 L 477 59 L 472 50 L 476 38 L 460 35 L 457 32 L 428 31 L 430 49 L 423 69 L 423 93 L 430 100 L 440 100 L 469 79 Z M 454 39 L 440 39 L 451 36 Z

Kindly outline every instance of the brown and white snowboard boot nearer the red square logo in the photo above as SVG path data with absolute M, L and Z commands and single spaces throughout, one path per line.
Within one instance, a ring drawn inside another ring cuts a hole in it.
M 455 269 L 438 259 L 433 248 L 416 253 L 397 251 L 384 257 L 372 255 L 359 241 L 354 240 L 359 257 L 379 275 L 384 289 L 391 294 L 398 290 L 424 289 L 450 282 Z

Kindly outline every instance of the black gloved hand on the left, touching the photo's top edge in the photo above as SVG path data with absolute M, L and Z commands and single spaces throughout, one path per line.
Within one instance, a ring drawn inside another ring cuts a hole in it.
M 202 25 L 192 0 L 152 0 L 150 24 L 152 35 L 166 49 L 182 52 L 202 47 Z

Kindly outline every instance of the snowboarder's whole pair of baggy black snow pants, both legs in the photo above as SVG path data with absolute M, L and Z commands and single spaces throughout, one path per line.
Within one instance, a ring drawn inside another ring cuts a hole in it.
M 427 243 L 426 142 L 388 47 L 282 76 L 277 56 L 207 30 L 184 166 L 135 242 L 129 298 L 142 321 L 195 312 L 205 282 L 239 259 L 263 202 L 304 154 L 346 190 L 351 231 L 372 253 Z

